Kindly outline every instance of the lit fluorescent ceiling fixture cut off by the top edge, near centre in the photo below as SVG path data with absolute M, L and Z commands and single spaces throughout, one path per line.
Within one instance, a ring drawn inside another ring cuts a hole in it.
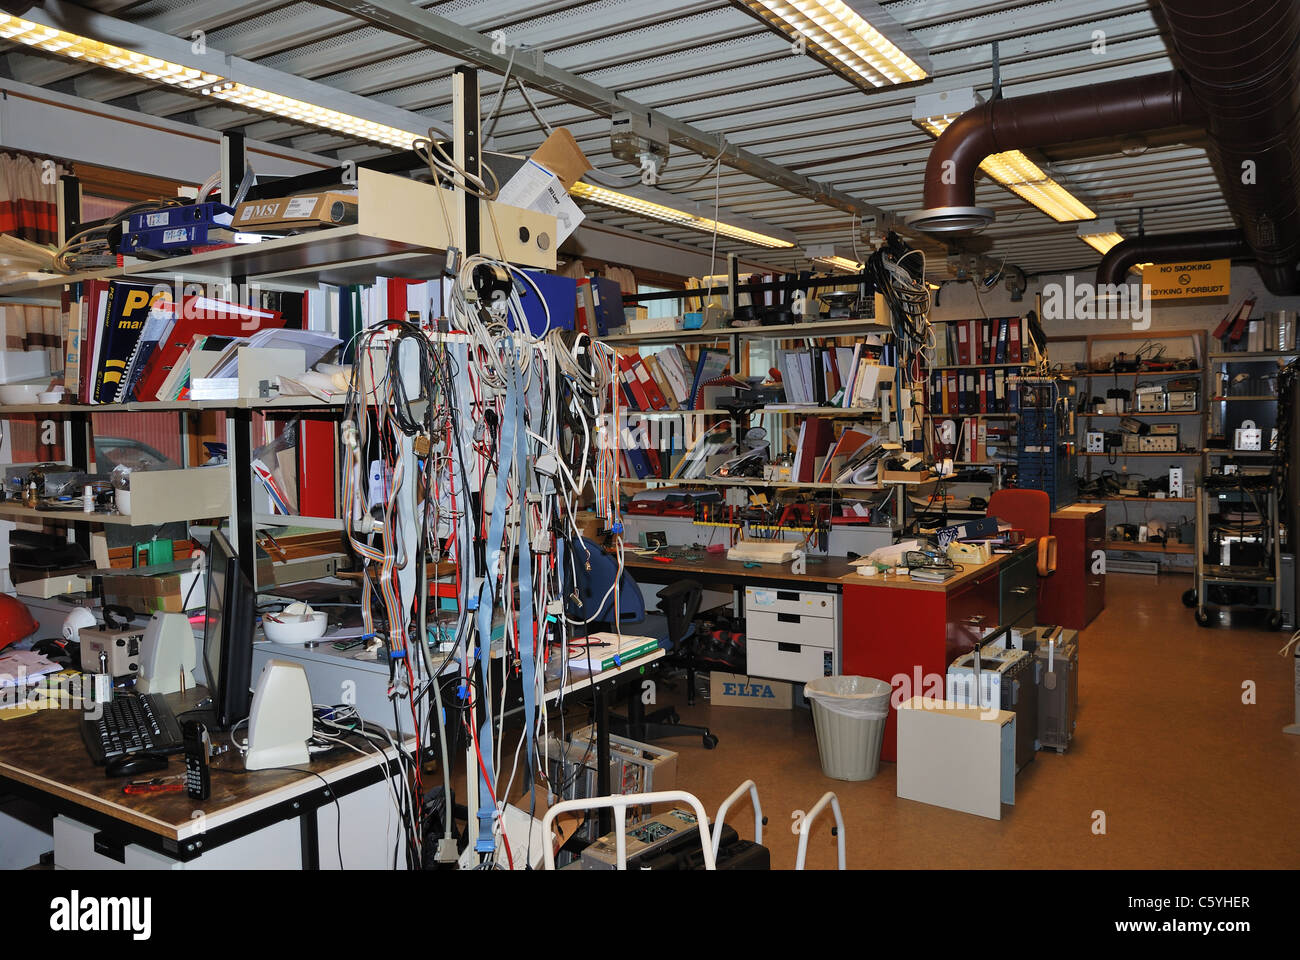
M 732 0 L 859 87 L 913 83 L 930 75 L 930 60 L 883 8 L 854 4 L 874 23 L 841 0 Z M 890 34 L 889 36 L 885 33 Z

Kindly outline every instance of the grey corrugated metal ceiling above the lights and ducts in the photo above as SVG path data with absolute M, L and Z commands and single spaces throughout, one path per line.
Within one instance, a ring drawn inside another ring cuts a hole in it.
M 270 0 L 98 0 L 88 5 L 172 35 L 188 38 L 203 30 L 207 43 L 226 53 L 433 120 L 450 120 L 448 74 L 455 61 L 332 9 Z M 546 51 L 549 64 L 898 213 L 920 207 L 922 174 L 932 143 L 911 124 L 914 99 L 957 87 L 975 87 L 987 96 L 993 42 L 998 44 L 1004 95 L 1010 98 L 1170 69 L 1147 4 L 1135 0 L 884 3 L 928 51 L 933 75 L 924 85 L 871 94 L 807 56 L 793 55 L 780 36 L 716 0 L 450 0 L 417 5 L 484 34 L 502 30 L 510 44 Z M 1104 52 L 1097 51 L 1097 31 L 1104 35 Z M 91 100 L 212 129 L 243 129 L 257 139 L 341 157 L 377 152 L 335 134 L 214 107 L 202 98 L 107 70 L 86 70 L 26 49 L 10 49 L 5 56 L 14 79 L 56 86 Z M 482 77 L 485 114 L 495 101 L 498 82 L 493 74 Z M 547 124 L 573 131 L 593 164 L 634 182 L 637 172 L 610 155 L 607 118 L 542 91 L 534 90 L 532 96 Z M 523 98 L 515 90 L 507 92 L 493 146 L 526 153 L 543 135 Z M 1050 170 L 1101 217 L 1117 219 L 1126 233 L 1136 232 L 1139 209 L 1150 233 L 1231 226 L 1202 150 L 1173 144 L 1130 152 L 1062 159 Z M 662 186 L 710 207 L 716 191 L 723 208 L 793 230 L 806 243 L 853 246 L 849 215 L 725 164 L 690 185 L 708 172 L 710 163 L 711 157 L 675 147 Z M 991 256 L 1005 256 L 1031 273 L 1096 263 L 1091 248 L 1076 239 L 1075 225 L 1056 224 L 989 182 L 979 185 L 976 202 L 998 213 L 985 233 Z M 710 246 L 707 235 L 594 206 L 588 216 Z M 744 250 L 779 265 L 806 264 L 797 252 L 757 251 L 724 238 L 719 238 L 718 250 Z

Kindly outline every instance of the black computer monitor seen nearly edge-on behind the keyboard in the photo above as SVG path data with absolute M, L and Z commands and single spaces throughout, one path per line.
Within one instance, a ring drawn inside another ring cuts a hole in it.
M 239 557 L 221 531 L 208 549 L 208 615 L 203 630 L 203 669 L 217 727 L 247 719 L 252 702 L 255 594 Z

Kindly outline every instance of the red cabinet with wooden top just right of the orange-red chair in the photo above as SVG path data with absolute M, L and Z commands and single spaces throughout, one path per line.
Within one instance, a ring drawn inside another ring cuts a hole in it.
M 1039 623 L 1083 630 L 1106 606 L 1106 510 L 1078 503 L 1052 514 L 1056 572 L 1043 581 Z

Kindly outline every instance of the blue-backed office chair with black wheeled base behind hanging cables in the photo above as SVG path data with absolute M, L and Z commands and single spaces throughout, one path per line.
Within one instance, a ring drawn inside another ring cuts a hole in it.
M 615 619 L 614 593 L 610 587 L 619 568 L 618 561 L 586 537 L 569 540 L 567 546 L 564 576 L 568 614 L 572 619 L 592 619 L 593 622 L 588 624 L 592 632 L 607 630 Z M 575 574 L 576 583 L 571 583 Z M 698 581 L 677 580 L 659 593 L 663 613 L 647 614 L 641 587 L 632 575 L 624 570 L 619 580 L 620 628 L 627 630 L 634 624 L 638 635 L 658 639 L 668 656 L 685 665 L 690 704 L 696 700 L 696 660 L 694 644 L 688 641 L 694 633 L 696 614 L 699 611 L 702 597 L 703 587 Z M 604 605 L 593 614 L 602 598 Z M 670 736 L 698 735 L 706 749 L 718 745 L 718 738 L 708 732 L 708 727 L 680 723 L 679 719 L 676 709 L 671 706 L 647 714 L 641 702 L 641 691 L 633 687 L 628 697 L 628 715 L 610 714 L 610 726 L 621 736 L 646 743 Z

